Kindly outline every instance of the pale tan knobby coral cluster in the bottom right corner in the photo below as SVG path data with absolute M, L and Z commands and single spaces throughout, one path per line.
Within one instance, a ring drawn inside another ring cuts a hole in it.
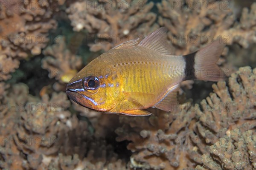
M 254 130 L 241 133 L 240 129 L 231 130 L 228 136 L 218 139 L 210 146 L 209 155 L 202 155 L 204 167 L 210 170 L 236 169 L 252 170 L 256 168 L 256 134 Z M 203 169 L 197 166 L 196 169 Z

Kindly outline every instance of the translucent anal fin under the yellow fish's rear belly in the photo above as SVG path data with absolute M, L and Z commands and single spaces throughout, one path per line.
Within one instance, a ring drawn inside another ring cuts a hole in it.
M 180 85 L 174 85 L 168 89 L 166 94 L 157 102 L 154 107 L 161 109 L 163 111 L 175 111 L 175 108 L 178 106 L 177 101 L 177 91 L 179 90 Z

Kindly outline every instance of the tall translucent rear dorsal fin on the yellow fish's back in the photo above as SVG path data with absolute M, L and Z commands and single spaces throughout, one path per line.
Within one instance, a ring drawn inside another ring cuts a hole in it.
M 161 27 L 145 37 L 138 46 L 150 48 L 161 54 L 172 55 L 170 45 L 167 42 L 167 28 Z

